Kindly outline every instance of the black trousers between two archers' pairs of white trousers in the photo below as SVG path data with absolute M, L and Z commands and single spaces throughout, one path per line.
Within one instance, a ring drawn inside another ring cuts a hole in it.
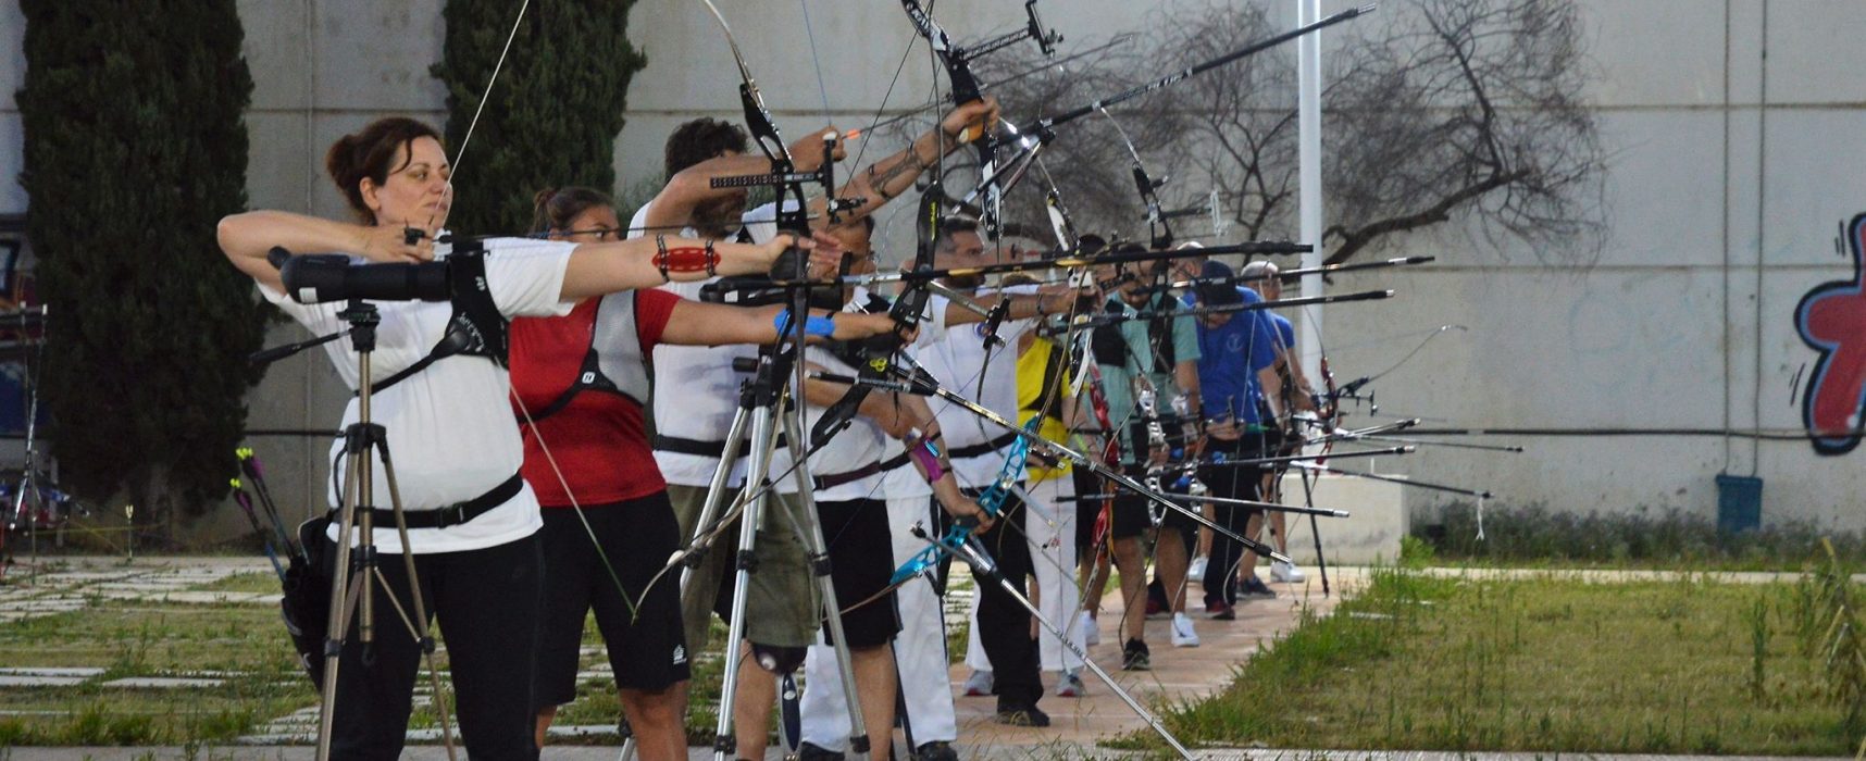
M 978 496 L 968 491 L 967 494 Z M 1030 541 L 1024 537 L 1024 507 L 1015 494 L 1004 500 L 998 520 L 978 537 L 985 552 L 998 561 L 998 573 L 1026 595 L 1032 574 Z M 1030 636 L 1030 610 L 1011 597 L 998 582 L 978 578 L 978 640 L 991 660 L 993 692 L 1000 707 L 1036 705 L 1043 698 L 1043 658 L 1037 640 Z

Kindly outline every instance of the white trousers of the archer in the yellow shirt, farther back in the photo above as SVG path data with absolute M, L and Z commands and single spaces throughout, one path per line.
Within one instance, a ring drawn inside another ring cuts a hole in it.
M 1030 513 L 1024 515 L 1024 533 L 1030 539 L 1030 567 L 1037 582 L 1032 589 L 1037 610 L 1051 623 L 1062 627 L 1077 647 L 1082 645 L 1082 627 L 1075 625 L 1077 610 L 1082 608 L 1082 591 L 1075 586 L 1075 502 L 1060 498 L 1075 496 L 1075 481 L 1067 476 L 1032 483 L 1028 489 Z M 991 670 L 985 658 L 985 645 L 978 638 L 978 597 L 972 597 L 972 610 L 967 614 L 972 623 L 965 645 L 965 664 L 972 670 Z M 1082 658 L 1062 645 L 1049 629 L 1037 625 L 1037 649 L 1043 653 L 1045 671 L 1065 671 L 1082 668 Z

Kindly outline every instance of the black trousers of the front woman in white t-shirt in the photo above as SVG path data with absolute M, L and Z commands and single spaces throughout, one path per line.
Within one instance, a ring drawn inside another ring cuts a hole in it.
M 336 556 L 334 548 L 330 556 Z M 377 567 L 388 582 L 371 584 L 375 642 L 356 640 L 356 617 L 343 642 L 338 671 L 336 726 L 330 757 L 397 759 L 409 731 L 411 698 L 422 660 L 420 643 L 401 623 L 388 595 L 414 616 L 409 576 L 399 554 Z M 537 759 L 532 713 L 532 653 L 543 597 L 537 535 L 483 550 L 414 556 L 429 617 L 440 619 L 453 711 L 474 761 Z M 355 576 L 360 578 L 360 576 Z M 336 612 L 332 612 L 336 616 Z

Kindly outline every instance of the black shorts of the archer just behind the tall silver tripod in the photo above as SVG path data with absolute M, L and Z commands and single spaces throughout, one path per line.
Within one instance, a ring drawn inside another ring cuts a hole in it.
M 888 504 L 883 500 L 817 502 L 823 541 L 829 545 L 829 578 L 836 588 L 842 630 L 849 647 L 881 647 L 901 630 L 888 580 L 894 576 L 894 539 L 888 535 Z M 883 589 L 888 589 L 883 593 Z M 855 610 L 849 610 L 855 606 Z M 834 642 L 829 623 L 823 640 Z

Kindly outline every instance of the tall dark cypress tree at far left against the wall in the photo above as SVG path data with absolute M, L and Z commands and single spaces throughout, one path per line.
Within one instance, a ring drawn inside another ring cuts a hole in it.
M 21 9 L 52 453 L 65 489 L 174 526 L 228 494 L 269 315 L 215 244 L 246 205 L 235 2 Z

